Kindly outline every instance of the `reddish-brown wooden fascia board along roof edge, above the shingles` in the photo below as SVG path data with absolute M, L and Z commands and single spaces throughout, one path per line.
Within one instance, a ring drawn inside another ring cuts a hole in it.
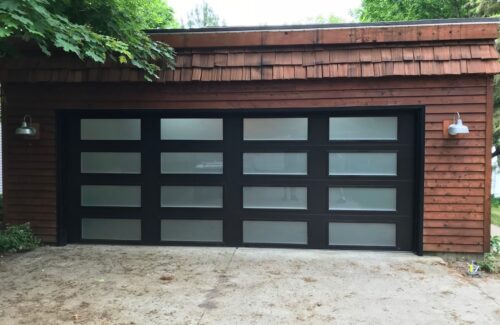
M 304 25 L 288 29 L 201 29 L 151 32 L 151 37 L 174 48 L 306 46 L 494 40 L 499 19 L 442 20 L 374 25 Z M 278 28 L 278 27 L 277 27 Z

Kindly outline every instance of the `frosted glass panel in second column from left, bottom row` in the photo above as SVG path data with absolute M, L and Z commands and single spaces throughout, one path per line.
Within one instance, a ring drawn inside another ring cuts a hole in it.
M 161 240 L 222 242 L 222 220 L 162 220 Z

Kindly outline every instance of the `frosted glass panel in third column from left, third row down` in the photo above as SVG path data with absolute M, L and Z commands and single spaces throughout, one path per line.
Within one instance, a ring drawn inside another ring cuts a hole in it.
M 307 188 L 244 187 L 243 207 L 251 209 L 307 209 Z

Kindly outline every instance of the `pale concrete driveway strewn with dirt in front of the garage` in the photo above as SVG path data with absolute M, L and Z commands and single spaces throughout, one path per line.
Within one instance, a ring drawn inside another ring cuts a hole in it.
M 500 279 L 410 253 L 68 245 L 0 258 L 0 324 L 476 323 L 500 323 Z

